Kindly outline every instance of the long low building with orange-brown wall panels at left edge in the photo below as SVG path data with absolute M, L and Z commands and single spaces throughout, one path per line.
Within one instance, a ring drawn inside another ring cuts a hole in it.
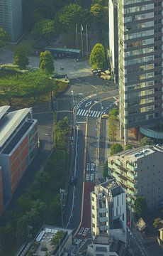
M 38 122 L 33 119 L 32 110 L 8 112 L 9 108 L 0 107 L 0 192 L 4 207 L 38 152 Z

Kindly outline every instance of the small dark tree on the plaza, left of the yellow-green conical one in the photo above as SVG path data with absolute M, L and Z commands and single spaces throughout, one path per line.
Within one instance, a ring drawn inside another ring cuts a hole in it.
M 23 48 L 18 48 L 13 56 L 13 64 L 18 65 L 18 67 L 23 70 L 29 65 L 28 57 L 26 56 Z

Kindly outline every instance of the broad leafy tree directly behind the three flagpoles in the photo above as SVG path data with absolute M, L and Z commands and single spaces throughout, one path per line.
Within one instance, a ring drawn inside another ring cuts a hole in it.
M 75 24 L 86 24 L 89 19 L 89 11 L 78 4 L 64 6 L 59 12 L 59 21 L 64 30 L 75 31 Z

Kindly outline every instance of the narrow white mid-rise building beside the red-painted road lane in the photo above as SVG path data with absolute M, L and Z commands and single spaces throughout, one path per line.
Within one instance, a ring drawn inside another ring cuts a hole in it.
M 96 185 L 91 192 L 91 233 L 111 235 L 113 238 L 123 238 L 126 230 L 126 198 L 125 190 L 115 178 Z M 119 237 L 118 237 L 119 235 Z

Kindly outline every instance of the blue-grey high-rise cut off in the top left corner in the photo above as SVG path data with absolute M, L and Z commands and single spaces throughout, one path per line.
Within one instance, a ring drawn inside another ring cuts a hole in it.
M 22 0 L 0 0 L 0 26 L 17 41 L 23 32 Z

